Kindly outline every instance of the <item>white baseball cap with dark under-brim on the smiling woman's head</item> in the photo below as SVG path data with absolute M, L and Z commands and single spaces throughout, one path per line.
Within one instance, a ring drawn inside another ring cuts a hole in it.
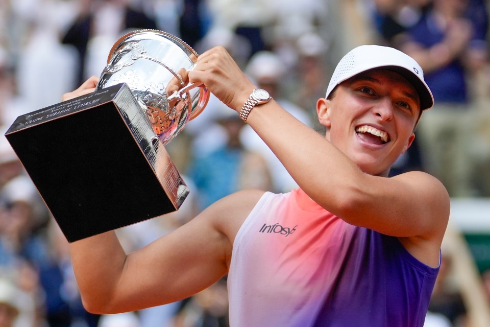
M 421 109 L 429 109 L 434 97 L 424 81 L 422 67 L 410 56 L 394 48 L 381 45 L 361 45 L 340 59 L 328 84 L 328 98 L 332 90 L 345 80 L 369 69 L 384 68 L 405 77 L 419 93 Z

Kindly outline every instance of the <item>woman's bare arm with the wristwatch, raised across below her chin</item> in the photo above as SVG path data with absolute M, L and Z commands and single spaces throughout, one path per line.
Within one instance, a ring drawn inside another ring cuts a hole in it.
M 203 82 L 239 112 L 254 85 L 240 74 L 228 56 L 220 48 L 204 53 L 190 78 Z M 318 105 L 325 106 L 327 100 L 320 101 L 324 103 Z M 325 112 L 320 110 L 321 120 L 328 116 Z M 400 238 L 430 239 L 440 245 L 449 217 L 449 197 L 435 178 L 422 172 L 396 178 L 363 172 L 359 162 L 293 118 L 275 101 L 254 108 L 247 123 L 274 151 L 298 185 L 328 211 L 354 225 Z M 412 129 L 413 125 L 414 121 Z M 395 133 L 392 137 L 395 138 Z M 404 151 L 408 146 L 409 143 Z

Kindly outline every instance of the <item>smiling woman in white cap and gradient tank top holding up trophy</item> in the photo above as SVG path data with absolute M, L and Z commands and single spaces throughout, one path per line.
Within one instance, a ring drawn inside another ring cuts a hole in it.
M 227 274 L 233 327 L 422 327 L 449 196 L 423 172 L 386 178 L 433 104 L 420 66 L 383 46 L 347 54 L 316 102 L 325 137 L 276 100 L 253 101 L 257 86 L 222 47 L 189 80 L 244 112 L 300 188 L 234 193 L 129 254 L 113 231 L 71 243 L 86 308 L 157 306 Z

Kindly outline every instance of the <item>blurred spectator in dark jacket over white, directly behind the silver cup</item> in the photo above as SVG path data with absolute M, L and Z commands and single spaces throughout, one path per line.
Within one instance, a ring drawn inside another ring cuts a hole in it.
M 106 51 L 106 58 L 121 32 L 129 29 L 156 29 L 156 22 L 141 10 L 132 8 L 128 0 L 83 0 L 76 20 L 62 37 L 63 44 L 75 46 L 79 54 L 77 83 L 91 75 L 100 75 L 105 62 L 96 73 L 87 72 L 89 43 L 96 37 L 107 42 L 94 45 L 94 51 Z M 104 45 L 103 45 L 104 44 Z M 101 50 L 102 48 L 102 50 Z M 93 64 L 93 63 L 92 63 Z M 89 65 L 90 66 L 90 65 Z

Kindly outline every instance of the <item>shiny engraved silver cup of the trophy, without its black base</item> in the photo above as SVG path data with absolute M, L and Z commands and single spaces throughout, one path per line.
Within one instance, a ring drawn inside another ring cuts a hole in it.
M 128 84 L 156 135 L 166 144 L 209 100 L 205 87 L 188 82 L 187 74 L 197 58 L 198 54 L 174 35 L 134 31 L 112 47 L 97 89 Z

